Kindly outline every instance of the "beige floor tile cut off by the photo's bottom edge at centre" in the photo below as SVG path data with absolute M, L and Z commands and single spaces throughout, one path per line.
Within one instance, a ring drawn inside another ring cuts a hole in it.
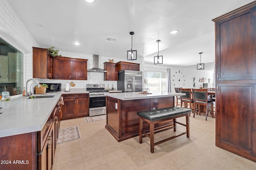
M 111 170 L 133 170 L 136 164 L 129 160 L 126 156 L 119 157 L 118 159 L 108 162 L 108 166 Z

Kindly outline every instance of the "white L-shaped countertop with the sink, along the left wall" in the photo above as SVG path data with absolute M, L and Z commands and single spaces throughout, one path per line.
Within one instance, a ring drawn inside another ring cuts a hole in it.
M 41 131 L 62 94 L 88 93 L 85 89 L 48 93 L 53 98 L 28 99 L 20 96 L 0 102 L 0 137 Z M 47 94 L 47 93 L 46 93 Z M 35 94 L 37 96 L 40 94 Z

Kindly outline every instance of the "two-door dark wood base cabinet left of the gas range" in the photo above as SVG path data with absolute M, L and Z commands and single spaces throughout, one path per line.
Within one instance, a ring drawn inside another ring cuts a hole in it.
M 89 94 L 62 94 L 64 105 L 62 106 L 61 119 L 85 117 L 89 115 Z

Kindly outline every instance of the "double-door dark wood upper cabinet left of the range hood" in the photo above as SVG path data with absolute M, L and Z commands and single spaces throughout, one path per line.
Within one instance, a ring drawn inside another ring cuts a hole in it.
M 87 59 L 54 57 L 52 76 L 54 79 L 87 80 Z

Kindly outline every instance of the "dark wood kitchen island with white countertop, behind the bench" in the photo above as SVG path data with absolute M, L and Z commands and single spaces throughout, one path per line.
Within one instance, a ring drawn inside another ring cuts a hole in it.
M 119 142 L 138 136 L 139 116 L 138 111 L 146 111 L 174 106 L 174 97 L 185 95 L 183 93 L 151 92 L 122 92 L 106 94 L 106 129 Z M 160 127 L 170 127 L 173 121 L 156 124 Z M 144 123 L 143 128 L 149 129 L 149 124 Z

